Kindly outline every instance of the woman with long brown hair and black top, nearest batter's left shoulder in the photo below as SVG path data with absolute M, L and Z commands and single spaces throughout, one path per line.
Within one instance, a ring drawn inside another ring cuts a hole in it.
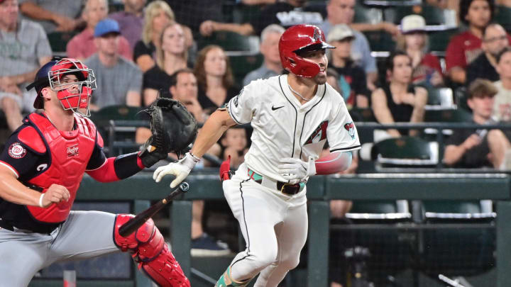
M 229 57 L 217 45 L 207 45 L 199 51 L 194 74 L 199 83 L 199 103 L 208 114 L 240 91 L 239 87 L 234 85 Z

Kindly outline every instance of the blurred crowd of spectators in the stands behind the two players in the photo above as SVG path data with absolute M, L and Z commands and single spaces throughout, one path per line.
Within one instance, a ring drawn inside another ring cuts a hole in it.
M 490 127 L 444 129 L 442 143 L 438 130 L 359 128 L 363 149 L 345 173 L 397 164 L 511 168 L 508 0 L 0 0 L 0 136 L 5 140 L 33 111 L 35 93 L 25 88 L 54 55 L 94 70 L 92 119 L 110 142 L 101 118 L 128 118 L 158 96 L 181 101 L 204 123 L 251 81 L 285 74 L 278 41 L 300 23 L 319 26 L 336 47 L 328 83 L 357 123 Z M 236 169 L 250 135 L 249 126 L 228 130 L 198 169 L 229 155 Z M 148 136 L 141 125 L 124 140 L 137 145 Z M 426 157 L 407 157 L 413 149 L 404 149 L 400 159 L 412 161 L 385 161 L 389 145 L 424 147 Z M 105 148 L 110 156 L 121 152 Z M 351 208 L 331 201 L 333 218 Z M 194 201 L 193 210 L 192 254 L 230 254 L 203 230 L 204 201 Z M 332 279 L 332 286 L 341 281 Z

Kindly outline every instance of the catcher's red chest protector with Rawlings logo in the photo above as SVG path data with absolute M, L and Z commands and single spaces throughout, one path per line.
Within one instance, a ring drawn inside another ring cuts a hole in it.
M 48 169 L 28 181 L 40 186 L 45 193 L 52 184 L 65 186 L 70 192 L 69 201 L 53 203 L 48 208 L 26 206 L 36 220 L 45 223 L 61 223 L 67 219 L 85 168 L 94 150 L 96 127 L 87 118 L 75 116 L 77 129 L 71 132 L 59 131 L 48 118 L 32 113 L 28 116 L 31 125 L 49 147 Z

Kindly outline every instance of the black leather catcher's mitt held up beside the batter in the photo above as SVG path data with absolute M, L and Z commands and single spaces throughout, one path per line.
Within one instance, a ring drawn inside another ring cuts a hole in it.
M 197 137 L 197 122 L 179 101 L 156 99 L 143 111 L 150 116 L 150 130 L 153 134 L 139 155 L 145 167 L 166 159 L 169 152 L 178 155 L 186 152 L 186 147 Z

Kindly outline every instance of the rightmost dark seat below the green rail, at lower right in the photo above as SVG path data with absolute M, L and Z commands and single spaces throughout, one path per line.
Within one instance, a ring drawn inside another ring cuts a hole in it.
M 422 231 L 421 270 L 433 277 L 473 276 L 493 268 L 491 206 L 490 201 L 422 201 L 424 223 L 439 227 Z

